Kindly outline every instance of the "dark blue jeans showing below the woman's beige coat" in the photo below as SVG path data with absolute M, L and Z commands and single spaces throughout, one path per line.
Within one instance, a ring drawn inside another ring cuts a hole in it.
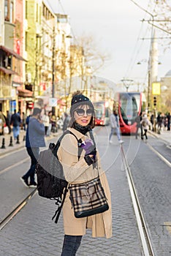
M 64 244 L 61 256 L 75 256 L 80 246 L 82 236 L 64 236 Z

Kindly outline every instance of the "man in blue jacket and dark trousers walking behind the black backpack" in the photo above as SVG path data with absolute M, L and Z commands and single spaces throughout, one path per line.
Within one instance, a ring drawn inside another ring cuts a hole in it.
M 26 150 L 31 158 L 31 166 L 20 178 L 26 187 L 37 187 L 34 180 L 35 167 L 39 158 L 39 147 L 45 146 L 45 126 L 40 118 L 41 112 L 41 109 L 34 108 L 32 115 L 26 118 Z M 28 178 L 30 178 L 30 181 L 28 181 Z

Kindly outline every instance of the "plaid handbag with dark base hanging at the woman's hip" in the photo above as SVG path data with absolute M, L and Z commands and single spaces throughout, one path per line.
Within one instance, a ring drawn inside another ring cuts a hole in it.
M 80 184 L 69 184 L 69 192 L 76 218 L 101 214 L 109 209 L 99 176 Z

